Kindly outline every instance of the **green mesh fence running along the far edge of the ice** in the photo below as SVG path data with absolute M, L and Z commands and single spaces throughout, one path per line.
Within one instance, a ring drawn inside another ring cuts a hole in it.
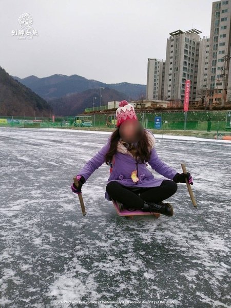
M 139 121 L 143 127 L 148 129 L 156 129 L 162 133 L 169 130 L 183 131 L 214 131 L 225 133 L 230 136 L 231 122 L 227 120 L 227 112 L 231 111 L 191 111 L 187 112 L 185 121 L 185 112 L 155 112 L 155 113 L 137 113 Z M 89 113 L 88 113 L 89 117 Z M 155 124 L 155 117 L 161 117 L 159 127 Z M 52 118 L 33 118 L 33 117 L 0 117 L 0 127 L 23 127 L 23 128 L 76 128 L 76 129 L 115 129 L 116 118 L 115 112 L 111 114 L 95 113 L 91 115 L 90 123 L 74 123 L 74 117 L 55 117 Z

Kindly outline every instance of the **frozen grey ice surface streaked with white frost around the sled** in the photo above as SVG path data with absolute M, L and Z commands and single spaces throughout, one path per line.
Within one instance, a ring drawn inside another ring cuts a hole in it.
M 1 307 L 231 306 L 231 142 L 155 137 L 159 157 L 194 178 L 198 211 L 179 183 L 165 200 L 174 216 L 119 217 L 103 164 L 83 185 L 84 218 L 72 177 L 108 133 L 0 128 Z

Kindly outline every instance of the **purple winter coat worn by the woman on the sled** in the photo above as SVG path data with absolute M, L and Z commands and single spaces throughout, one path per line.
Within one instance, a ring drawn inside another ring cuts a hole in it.
M 144 128 L 144 130 L 151 133 L 151 137 L 155 140 L 153 133 Z M 149 135 L 150 136 L 150 135 Z M 105 163 L 105 155 L 110 147 L 110 138 L 107 140 L 107 144 L 104 145 L 79 171 L 78 175 L 82 175 L 85 178 L 85 182 L 92 175 L 92 173 L 98 169 L 103 163 Z M 151 156 L 147 162 L 151 168 L 157 171 L 160 175 L 167 179 L 172 180 L 178 171 L 165 164 L 159 157 L 155 146 L 151 148 Z M 147 168 L 147 163 L 139 164 L 136 160 L 128 154 L 117 151 L 114 155 L 114 164 L 112 171 L 108 178 L 107 184 L 110 181 L 117 181 L 120 184 L 128 187 L 155 187 L 160 186 L 164 178 L 157 179 L 153 176 L 152 172 Z M 109 166 L 108 166 L 109 167 Z M 137 176 L 139 181 L 133 182 L 131 179 L 131 172 L 137 170 Z M 107 191 L 105 191 L 105 199 L 111 201 Z

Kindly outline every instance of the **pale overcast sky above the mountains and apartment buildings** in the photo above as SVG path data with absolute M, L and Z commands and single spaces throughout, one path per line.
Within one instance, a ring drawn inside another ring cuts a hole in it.
M 0 66 L 39 78 L 78 74 L 105 83 L 146 84 L 147 59 L 165 60 L 169 32 L 209 36 L 211 0 L 0 0 Z M 18 40 L 29 13 L 38 35 Z

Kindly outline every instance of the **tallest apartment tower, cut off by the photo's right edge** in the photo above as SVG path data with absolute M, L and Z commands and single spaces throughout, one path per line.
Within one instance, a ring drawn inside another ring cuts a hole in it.
M 225 101 L 230 78 L 231 0 L 213 2 L 209 46 L 209 102 Z M 229 76 L 229 78 L 228 78 Z M 223 98 L 222 98 L 223 96 Z

